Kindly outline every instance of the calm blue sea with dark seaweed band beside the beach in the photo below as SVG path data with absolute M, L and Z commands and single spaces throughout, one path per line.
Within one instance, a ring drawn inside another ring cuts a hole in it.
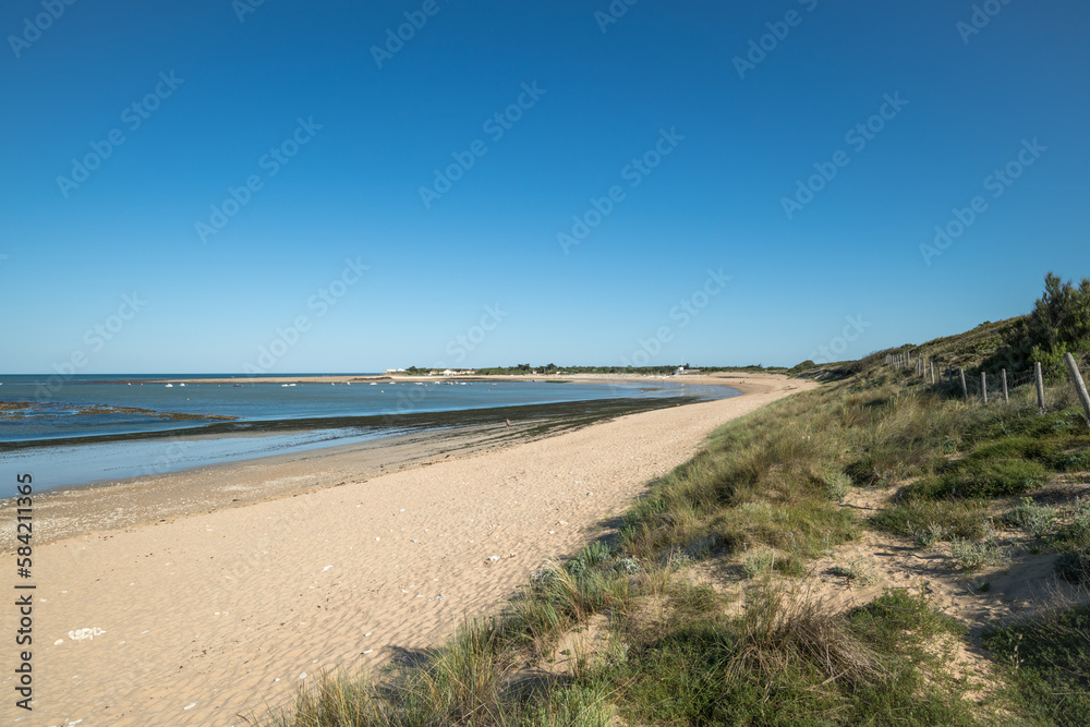
M 290 384 L 302 376 L 168 386 L 227 377 L 0 375 L 0 402 L 26 404 L 0 411 L 0 497 L 14 494 L 16 472 L 34 474 L 36 489 L 64 487 L 481 423 L 494 409 L 737 393 L 657 379 Z

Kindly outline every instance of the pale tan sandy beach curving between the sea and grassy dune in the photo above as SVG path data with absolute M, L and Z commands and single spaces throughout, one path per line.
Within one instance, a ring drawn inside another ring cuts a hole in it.
M 51 517 L 56 540 L 35 548 L 34 712 L 13 724 L 244 725 L 323 670 L 440 643 L 610 532 L 716 426 L 815 386 L 686 380 L 744 396 L 450 457 L 318 451 L 164 475 L 172 509 L 137 516 L 102 489 L 36 512 L 37 542 Z M 198 490 L 220 499 L 182 497 Z

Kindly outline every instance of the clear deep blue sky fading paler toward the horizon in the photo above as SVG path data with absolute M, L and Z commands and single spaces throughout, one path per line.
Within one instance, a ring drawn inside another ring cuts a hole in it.
M 1090 275 L 1082 0 L 10 0 L 0 33 L 0 373 L 792 365 Z

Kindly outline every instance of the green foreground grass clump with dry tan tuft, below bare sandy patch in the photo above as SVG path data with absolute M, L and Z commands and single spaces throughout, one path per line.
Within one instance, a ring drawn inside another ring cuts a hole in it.
M 925 602 L 891 592 L 845 617 L 798 590 L 756 589 L 738 617 L 708 609 L 631 630 L 627 658 L 592 678 L 622 690 L 632 724 L 971 724 L 941 650 L 905 658 L 906 644 L 940 635 Z M 906 609 L 896 622 L 870 616 L 887 605 Z

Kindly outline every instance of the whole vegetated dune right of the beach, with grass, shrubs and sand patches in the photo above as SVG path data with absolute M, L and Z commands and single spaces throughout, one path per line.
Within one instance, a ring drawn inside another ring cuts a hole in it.
M 1088 291 L 1050 275 L 1030 316 L 918 350 L 967 371 L 1083 358 Z M 1073 388 L 1050 386 L 1043 414 L 1032 386 L 984 404 L 888 353 L 714 432 L 499 616 L 262 724 L 1085 724 L 1090 428 Z M 894 564 L 874 593 L 874 557 L 843 555 L 868 544 Z M 1020 564 L 1042 590 L 1015 613 L 994 584 Z M 959 617 L 950 593 L 994 618 Z

